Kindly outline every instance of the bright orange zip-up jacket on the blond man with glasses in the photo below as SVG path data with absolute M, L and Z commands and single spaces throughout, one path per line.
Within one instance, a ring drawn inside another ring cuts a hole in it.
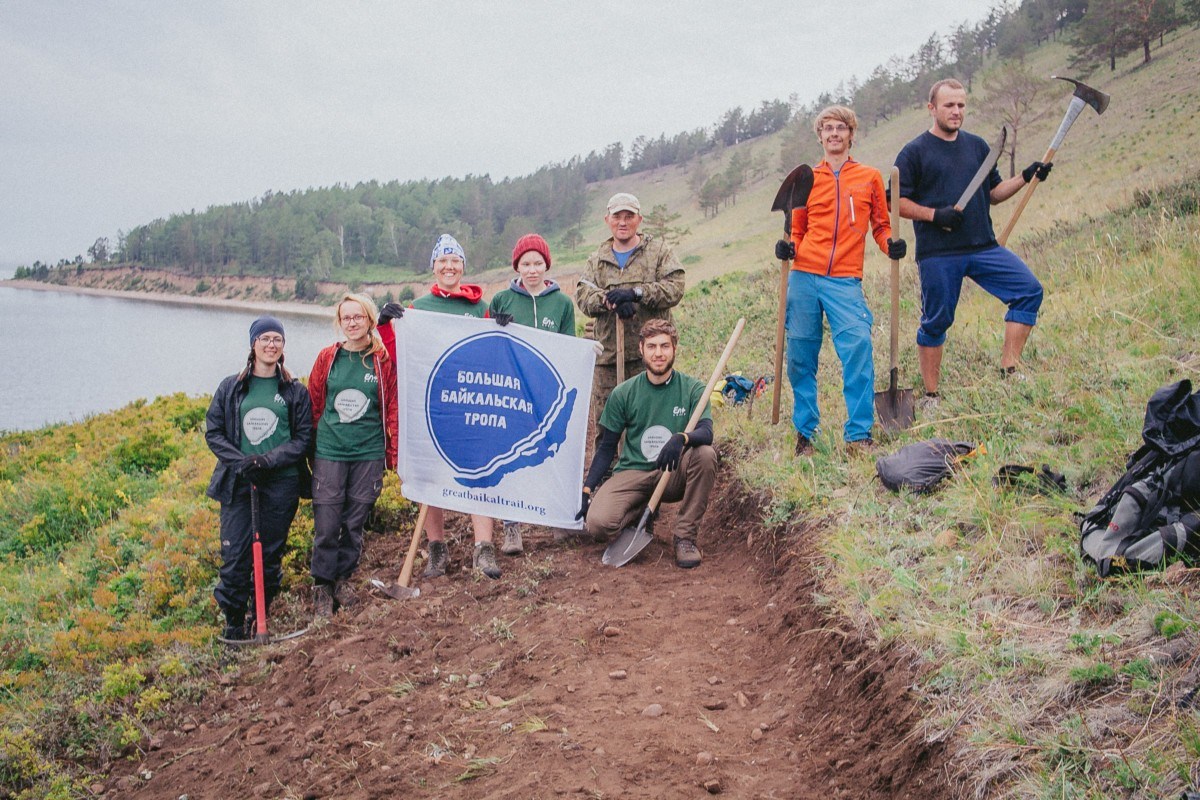
M 822 161 L 812 168 L 808 205 L 792 210 L 793 270 L 834 278 L 862 278 L 868 225 L 884 254 L 892 223 L 880 170 L 850 158 L 834 176 Z

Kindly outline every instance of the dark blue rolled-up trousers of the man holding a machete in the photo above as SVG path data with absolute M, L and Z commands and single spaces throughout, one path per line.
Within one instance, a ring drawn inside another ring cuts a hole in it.
M 1025 261 L 1001 246 L 978 253 L 934 255 L 917 263 L 920 273 L 920 326 L 917 344 L 942 347 L 946 331 L 954 324 L 954 312 L 962 294 L 962 278 L 1008 306 L 1006 323 L 1037 325 L 1042 307 L 1042 283 Z

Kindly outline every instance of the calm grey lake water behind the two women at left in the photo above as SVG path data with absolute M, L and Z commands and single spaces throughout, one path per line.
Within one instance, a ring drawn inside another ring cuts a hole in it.
M 210 395 L 250 353 L 266 312 L 0 287 L 0 431 L 109 411 L 138 398 Z M 337 339 L 329 318 L 275 313 L 286 361 L 307 375 Z

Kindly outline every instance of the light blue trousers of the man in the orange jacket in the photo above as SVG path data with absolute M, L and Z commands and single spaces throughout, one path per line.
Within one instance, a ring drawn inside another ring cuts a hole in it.
M 871 435 L 875 425 L 875 362 L 871 325 L 875 318 L 859 278 L 828 278 L 792 270 L 787 276 L 787 379 L 792 383 L 792 425 L 810 439 L 821 423 L 817 409 L 817 357 L 829 320 L 833 347 L 841 361 L 846 398 L 846 441 Z

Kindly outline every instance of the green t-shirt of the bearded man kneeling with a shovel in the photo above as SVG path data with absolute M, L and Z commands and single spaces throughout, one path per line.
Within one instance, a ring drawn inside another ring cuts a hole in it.
M 600 415 L 600 425 L 617 433 L 625 432 L 625 446 L 614 471 L 658 469 L 654 459 L 659 457 L 662 445 L 688 427 L 688 420 L 703 393 L 704 384 L 678 369 L 659 386 L 652 384 L 643 372 L 612 390 Z M 707 401 L 701 419 L 713 419 Z

